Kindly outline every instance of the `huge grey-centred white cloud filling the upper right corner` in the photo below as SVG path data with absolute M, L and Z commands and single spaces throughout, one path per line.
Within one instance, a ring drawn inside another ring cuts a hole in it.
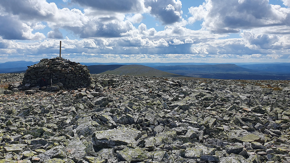
M 284 2 L 285 3 L 285 2 Z M 289 8 L 271 5 L 268 0 L 220 1 L 206 0 L 203 5 L 189 8 L 194 23 L 203 20 L 204 29 L 217 33 L 236 33 L 242 29 L 290 25 Z

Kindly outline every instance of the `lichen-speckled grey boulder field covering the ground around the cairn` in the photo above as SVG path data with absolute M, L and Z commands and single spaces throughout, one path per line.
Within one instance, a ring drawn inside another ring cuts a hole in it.
M 45 92 L 23 75 L 0 74 L 0 163 L 290 162 L 290 81 L 92 74 Z

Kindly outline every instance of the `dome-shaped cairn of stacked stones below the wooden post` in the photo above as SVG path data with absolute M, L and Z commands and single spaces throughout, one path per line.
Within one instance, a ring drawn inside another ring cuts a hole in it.
M 91 84 L 89 69 L 85 65 L 62 57 L 41 59 L 39 63 L 28 66 L 20 89 L 40 88 L 41 80 L 46 80 L 47 90 L 86 88 Z

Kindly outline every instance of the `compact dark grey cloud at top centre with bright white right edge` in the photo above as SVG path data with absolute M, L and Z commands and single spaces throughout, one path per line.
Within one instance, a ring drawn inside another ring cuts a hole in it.
M 172 24 L 181 21 L 181 1 L 180 0 L 145 0 L 145 7 L 151 7 L 150 13 L 162 24 Z

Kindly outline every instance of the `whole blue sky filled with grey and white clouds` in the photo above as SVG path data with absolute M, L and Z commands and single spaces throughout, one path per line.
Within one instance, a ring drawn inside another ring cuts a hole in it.
M 1 0 L 0 62 L 290 62 L 290 0 Z

